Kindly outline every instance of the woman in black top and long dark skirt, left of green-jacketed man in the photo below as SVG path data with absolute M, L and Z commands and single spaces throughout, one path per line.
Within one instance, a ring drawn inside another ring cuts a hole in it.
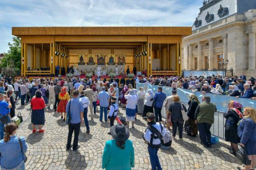
M 195 123 L 195 112 L 199 103 L 200 102 L 195 94 L 189 95 L 189 106 L 187 109 L 187 116 L 189 117 L 189 119 L 185 123 L 187 129 L 186 133 L 188 136 L 196 137 L 198 135 L 198 127 Z

